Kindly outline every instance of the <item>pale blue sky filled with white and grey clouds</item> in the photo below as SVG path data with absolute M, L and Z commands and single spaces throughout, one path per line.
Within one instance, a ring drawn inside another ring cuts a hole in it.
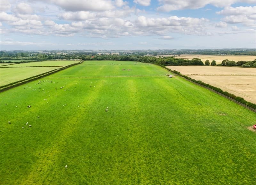
M 0 50 L 256 47 L 255 0 L 1 0 Z

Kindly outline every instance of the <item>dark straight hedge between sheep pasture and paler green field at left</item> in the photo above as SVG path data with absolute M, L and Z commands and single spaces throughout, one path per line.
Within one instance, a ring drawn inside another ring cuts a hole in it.
M 12 83 L 10 83 L 10 84 L 2 85 L 2 86 L 0 86 L 0 92 L 6 91 L 6 90 L 8 90 L 8 89 L 17 87 L 17 86 L 22 85 L 22 84 L 26 84 L 26 83 L 28 83 L 28 82 L 34 81 L 34 80 L 39 79 L 39 78 L 43 78 L 43 77 L 45 77 L 45 76 L 51 75 L 51 74 L 56 73 L 56 72 L 58 72 L 58 71 L 64 70 L 64 69 L 66 69 L 66 68 L 69 68 L 69 67 L 71 67 L 71 66 L 80 64 L 80 63 L 82 63 L 82 62 L 84 62 L 84 61 L 81 60 L 81 61 L 78 62 L 78 63 L 72 63 L 72 64 L 67 65 L 67 66 L 64 66 L 64 67 L 62 67 L 62 68 L 50 70 L 50 71 L 47 71 L 47 72 L 38 74 L 38 75 L 36 75 L 36 76 L 32 76 L 32 77 L 29 77 L 29 78 L 25 78 L 25 79 L 22 79 L 22 80 L 19 80 L 19 81 L 16 81 L 16 82 L 12 82 Z

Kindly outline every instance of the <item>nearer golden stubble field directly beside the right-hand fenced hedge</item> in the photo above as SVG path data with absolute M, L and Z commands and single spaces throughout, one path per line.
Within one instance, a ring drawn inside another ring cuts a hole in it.
M 167 66 L 256 104 L 256 68 L 224 66 Z

